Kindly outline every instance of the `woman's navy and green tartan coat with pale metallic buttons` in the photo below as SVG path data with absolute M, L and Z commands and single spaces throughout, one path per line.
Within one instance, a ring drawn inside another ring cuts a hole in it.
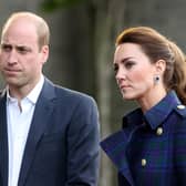
M 101 142 L 118 170 L 118 186 L 186 186 L 186 107 L 174 91 Z

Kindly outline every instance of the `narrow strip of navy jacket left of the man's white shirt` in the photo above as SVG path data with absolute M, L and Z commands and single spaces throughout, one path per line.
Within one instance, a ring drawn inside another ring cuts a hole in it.
M 7 132 L 7 107 L 6 91 L 0 97 L 0 185 L 8 185 L 8 132 Z

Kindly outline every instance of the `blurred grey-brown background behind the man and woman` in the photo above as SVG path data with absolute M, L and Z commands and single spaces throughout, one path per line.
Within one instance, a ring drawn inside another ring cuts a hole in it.
M 51 44 L 44 74 L 94 96 L 101 138 L 120 130 L 122 116 L 137 106 L 123 101 L 115 84 L 116 35 L 127 27 L 148 25 L 186 51 L 185 0 L 0 0 L 0 27 L 14 11 L 32 11 L 48 21 Z M 103 152 L 99 186 L 116 186 L 116 168 Z

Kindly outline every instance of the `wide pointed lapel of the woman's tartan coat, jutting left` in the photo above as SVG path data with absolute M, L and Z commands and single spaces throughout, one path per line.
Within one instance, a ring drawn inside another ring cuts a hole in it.
M 118 131 L 101 142 L 101 146 L 107 156 L 112 159 L 112 162 L 116 165 L 118 172 L 125 176 L 132 186 L 134 186 L 134 180 L 127 159 L 127 141 L 128 138 L 125 132 Z

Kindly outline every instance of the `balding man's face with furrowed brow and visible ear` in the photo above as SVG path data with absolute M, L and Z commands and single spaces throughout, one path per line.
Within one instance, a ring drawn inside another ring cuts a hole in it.
M 48 59 L 48 46 L 39 50 L 38 34 L 32 22 L 20 18 L 3 32 L 0 50 L 0 70 L 13 89 L 32 89 Z

